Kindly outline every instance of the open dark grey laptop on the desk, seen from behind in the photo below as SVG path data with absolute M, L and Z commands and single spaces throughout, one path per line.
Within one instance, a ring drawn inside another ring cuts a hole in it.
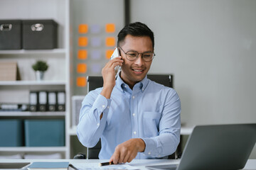
M 242 169 L 256 142 L 255 124 L 198 125 L 193 129 L 180 164 L 148 169 Z

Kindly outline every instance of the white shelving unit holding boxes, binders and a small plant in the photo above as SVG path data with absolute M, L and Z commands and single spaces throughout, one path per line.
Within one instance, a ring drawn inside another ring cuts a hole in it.
M 16 8 L 18 6 L 18 8 Z M 11 11 L 11 12 L 10 12 Z M 53 19 L 58 23 L 58 48 L 53 50 L 0 50 L 0 62 L 17 62 L 21 81 L 0 81 L 0 103 L 28 103 L 31 90 L 65 90 L 65 112 L 0 112 L 4 118 L 64 118 L 63 147 L 0 147 L 4 154 L 49 154 L 58 152 L 70 158 L 70 0 L 2 0 L 0 20 Z M 31 65 L 36 60 L 49 64 L 44 81 L 36 81 Z

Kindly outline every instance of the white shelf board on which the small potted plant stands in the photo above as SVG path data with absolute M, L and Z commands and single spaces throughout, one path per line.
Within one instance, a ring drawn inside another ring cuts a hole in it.
M 65 81 L 0 81 L 0 86 L 65 85 Z

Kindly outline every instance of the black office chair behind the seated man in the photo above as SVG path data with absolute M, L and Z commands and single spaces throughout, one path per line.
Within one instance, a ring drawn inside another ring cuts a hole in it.
M 156 81 L 159 84 L 164 86 L 169 86 L 174 88 L 174 75 L 172 74 L 148 74 L 148 79 Z M 97 76 L 87 76 L 87 92 L 97 89 L 103 86 L 102 77 Z M 87 157 L 86 154 L 80 153 L 76 154 L 74 159 L 98 159 L 98 155 L 101 149 L 101 142 L 97 142 L 97 145 L 92 148 L 87 148 Z M 176 153 L 169 155 L 168 159 L 175 159 Z

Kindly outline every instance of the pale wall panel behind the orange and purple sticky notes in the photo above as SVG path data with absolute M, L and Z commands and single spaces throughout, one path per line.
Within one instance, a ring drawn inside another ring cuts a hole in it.
M 105 38 L 114 37 L 117 38 L 117 33 L 124 27 L 124 1 L 119 0 L 75 0 L 71 1 L 72 4 L 72 13 L 71 13 L 71 26 L 73 32 L 73 95 L 85 95 L 87 94 L 87 86 L 79 87 L 76 86 L 77 77 L 86 77 L 90 76 L 99 76 L 101 75 L 101 69 L 108 62 L 108 59 L 105 57 L 105 50 L 114 50 L 114 47 L 107 47 L 105 45 Z M 89 26 L 88 33 L 80 34 L 78 33 L 78 26 L 80 24 L 87 24 Z M 105 25 L 107 23 L 114 23 L 115 31 L 114 33 L 106 33 Z M 91 26 L 97 25 L 100 28 L 99 33 L 92 33 Z M 86 36 L 89 40 L 89 43 L 86 47 L 78 46 L 78 38 L 81 36 Z M 100 46 L 93 47 L 92 38 L 100 39 Z M 117 39 L 116 39 L 117 40 Z M 78 50 L 87 50 L 88 57 L 87 60 L 78 60 L 77 54 Z M 92 51 L 97 50 L 100 52 L 100 57 L 93 59 Z M 87 64 L 86 74 L 80 74 L 76 72 L 78 63 Z M 92 67 L 97 64 L 100 66 L 98 72 L 92 72 Z

